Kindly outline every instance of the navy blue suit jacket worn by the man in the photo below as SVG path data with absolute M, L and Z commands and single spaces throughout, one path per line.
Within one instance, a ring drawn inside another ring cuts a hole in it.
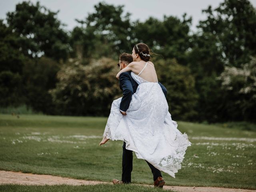
M 166 88 L 161 83 L 158 82 L 158 84 L 160 84 L 164 92 L 164 96 L 166 97 L 167 95 Z M 137 82 L 131 76 L 131 71 L 123 72 L 120 74 L 119 86 L 120 86 L 120 89 L 123 91 L 123 97 L 120 103 L 120 110 L 126 112 L 130 106 L 132 95 L 136 92 L 138 87 Z

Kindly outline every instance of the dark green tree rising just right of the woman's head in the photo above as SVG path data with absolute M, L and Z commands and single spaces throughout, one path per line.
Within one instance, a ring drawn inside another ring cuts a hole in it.
M 146 43 L 154 52 L 165 59 L 176 58 L 178 63 L 187 65 L 186 51 L 190 47 L 189 31 L 192 18 L 183 15 L 182 20 L 164 16 L 164 20 L 150 17 L 145 22 L 135 22 L 133 42 Z

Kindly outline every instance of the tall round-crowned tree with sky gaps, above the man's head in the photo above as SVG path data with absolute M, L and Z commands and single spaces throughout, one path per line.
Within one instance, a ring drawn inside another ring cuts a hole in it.
M 83 57 L 117 58 L 120 52 L 131 49 L 132 26 L 130 14 L 123 14 L 123 6 L 103 2 L 94 6 L 95 12 L 85 20 L 77 20 L 81 27 L 71 33 L 70 43 L 74 50 L 82 48 Z

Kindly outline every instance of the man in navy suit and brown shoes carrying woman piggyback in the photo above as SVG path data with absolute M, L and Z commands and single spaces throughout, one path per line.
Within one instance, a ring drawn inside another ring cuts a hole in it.
M 125 68 L 130 62 L 132 62 L 132 55 L 128 53 L 122 53 L 119 56 L 118 66 L 120 70 Z M 160 84 L 160 83 L 159 83 Z M 123 97 L 120 103 L 120 112 L 123 115 L 126 115 L 126 110 L 130 106 L 130 102 L 132 100 L 132 94 L 134 94 L 137 90 L 138 84 L 131 76 L 131 71 L 123 72 L 119 76 L 119 85 L 120 89 L 123 91 Z M 166 88 L 160 84 L 164 95 L 166 97 L 167 90 Z M 117 179 L 113 179 L 113 184 L 122 184 L 122 183 L 130 183 L 131 182 L 131 174 L 132 174 L 132 151 L 126 149 L 126 143 L 123 144 L 123 156 L 122 156 L 122 180 L 119 181 Z M 147 162 L 147 161 L 146 161 Z M 152 166 L 149 162 L 148 166 L 151 169 L 154 179 L 154 186 L 163 187 L 165 184 L 164 179 L 162 178 L 162 174 L 160 170 Z

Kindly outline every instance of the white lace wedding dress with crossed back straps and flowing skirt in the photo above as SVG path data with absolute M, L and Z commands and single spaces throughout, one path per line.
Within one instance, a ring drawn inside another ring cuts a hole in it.
M 172 120 L 160 85 L 144 80 L 140 74 L 131 72 L 131 75 L 138 88 L 132 95 L 127 115 L 119 110 L 122 98 L 114 100 L 103 136 L 125 141 L 126 149 L 134 151 L 137 158 L 175 178 L 191 143 Z

